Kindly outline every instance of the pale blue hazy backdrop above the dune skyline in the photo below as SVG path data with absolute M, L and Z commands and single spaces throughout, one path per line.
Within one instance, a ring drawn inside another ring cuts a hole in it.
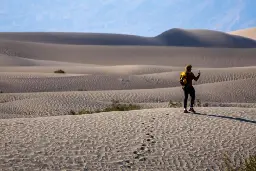
M 256 27 L 256 0 L 0 0 L 0 31 L 155 36 L 171 28 Z

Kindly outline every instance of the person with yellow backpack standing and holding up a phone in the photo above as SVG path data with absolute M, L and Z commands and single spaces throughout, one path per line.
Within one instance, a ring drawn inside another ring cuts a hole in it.
M 188 94 L 190 94 L 191 97 L 191 103 L 190 103 L 190 109 L 189 111 L 196 113 L 193 106 L 195 104 L 195 89 L 192 85 L 192 81 L 195 80 L 197 81 L 200 77 L 200 71 L 195 77 L 194 73 L 191 72 L 192 70 L 192 65 L 187 65 L 185 68 L 185 71 L 181 73 L 180 76 L 180 84 L 182 85 L 182 89 L 184 91 L 184 113 L 189 113 L 187 110 L 187 101 L 188 101 Z

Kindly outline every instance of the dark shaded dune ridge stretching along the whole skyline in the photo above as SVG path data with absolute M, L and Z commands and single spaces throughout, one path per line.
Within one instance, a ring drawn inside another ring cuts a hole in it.
M 155 37 L 106 33 L 0 33 L 1 40 L 73 45 L 256 48 L 256 41 L 212 30 L 170 29 Z

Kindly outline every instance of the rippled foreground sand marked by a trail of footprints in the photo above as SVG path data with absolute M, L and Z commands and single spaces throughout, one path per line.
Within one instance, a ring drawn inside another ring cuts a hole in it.
M 147 109 L 0 120 L 2 170 L 220 170 L 256 152 L 256 109 Z M 219 116 L 219 117 L 218 117 Z M 223 116 L 244 118 L 238 121 Z

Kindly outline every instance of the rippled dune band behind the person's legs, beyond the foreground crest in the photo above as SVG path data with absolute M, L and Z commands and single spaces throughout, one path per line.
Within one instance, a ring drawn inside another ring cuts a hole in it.
M 255 78 L 196 85 L 197 99 L 201 103 L 255 103 Z M 18 88 L 17 88 L 18 89 Z M 102 109 L 111 100 L 122 103 L 146 103 L 147 106 L 169 100 L 182 102 L 180 87 L 109 91 L 71 91 L 42 93 L 13 93 L 0 96 L 0 113 L 23 115 L 23 117 L 66 115 L 70 110 Z M 43 105 L 42 105 L 43 104 Z M 15 116 L 14 115 L 14 116 Z

